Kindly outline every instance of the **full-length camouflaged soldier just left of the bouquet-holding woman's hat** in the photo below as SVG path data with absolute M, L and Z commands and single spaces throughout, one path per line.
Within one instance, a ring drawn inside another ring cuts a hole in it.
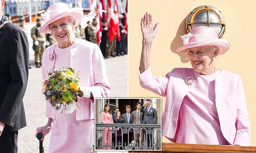
M 41 18 L 37 18 L 36 21 L 37 25 L 31 29 L 31 38 L 35 46 L 33 47 L 35 50 L 35 67 L 39 68 L 42 65 L 42 55 L 46 46 L 46 38 L 45 34 L 38 32 L 38 29 L 41 28 Z

